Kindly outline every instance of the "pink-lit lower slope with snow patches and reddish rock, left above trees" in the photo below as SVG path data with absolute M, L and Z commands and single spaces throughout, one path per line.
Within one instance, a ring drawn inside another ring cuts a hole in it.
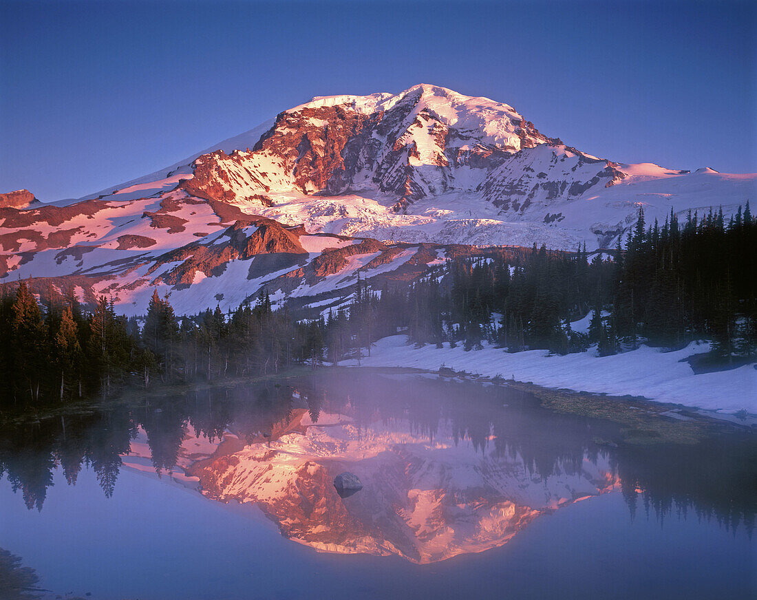
M 34 278 L 99 294 L 126 315 L 145 312 L 152 290 L 178 314 L 235 309 L 266 290 L 274 302 L 328 310 L 354 292 L 357 272 L 375 287 L 386 277 L 413 281 L 465 248 L 394 244 L 307 234 L 301 226 L 244 213 L 183 190 L 128 201 L 95 199 L 67 207 L 0 209 L 0 281 Z M 376 279 L 378 278 L 378 279 Z M 38 291 L 39 291 L 38 290 Z

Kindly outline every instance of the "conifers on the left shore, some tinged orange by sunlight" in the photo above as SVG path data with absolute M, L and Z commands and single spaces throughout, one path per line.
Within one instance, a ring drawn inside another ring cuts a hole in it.
M 274 312 L 267 294 L 224 313 L 178 318 L 153 292 L 143 319 L 101 296 L 85 311 L 73 292 L 41 303 L 20 281 L 0 297 L 0 406 L 108 395 L 125 384 L 269 375 L 312 356 L 313 328 Z

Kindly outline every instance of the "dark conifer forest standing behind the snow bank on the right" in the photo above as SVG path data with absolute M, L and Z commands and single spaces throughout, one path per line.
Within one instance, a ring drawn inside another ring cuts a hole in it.
M 409 289 L 371 290 L 357 282 L 350 306 L 314 325 L 313 338 L 338 360 L 349 347 L 406 332 L 415 344 L 465 350 L 484 341 L 509 352 L 683 347 L 712 340 L 712 358 L 733 362 L 757 352 L 757 219 L 749 203 L 725 222 L 722 210 L 671 211 L 646 225 L 639 210 L 625 244 L 594 253 L 553 252 L 450 260 Z M 584 331 L 572 322 L 590 317 Z

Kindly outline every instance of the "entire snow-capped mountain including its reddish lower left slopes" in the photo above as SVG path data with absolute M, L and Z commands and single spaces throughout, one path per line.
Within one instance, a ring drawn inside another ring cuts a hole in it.
M 322 289 L 301 295 L 317 297 L 334 288 L 327 276 L 341 273 L 346 285 L 357 269 L 433 265 L 450 256 L 449 244 L 608 247 L 639 207 L 650 222 L 671 210 L 727 215 L 755 191 L 755 174 L 615 163 L 540 133 L 507 104 L 416 85 L 313 98 L 78 201 L 6 194 L 0 281 L 64 277 L 84 297 L 110 294 L 137 313 L 157 286 L 192 312 L 233 306 L 263 287 L 291 297 L 306 281 Z M 361 251 L 319 258 L 345 246 Z M 318 275 L 307 280 L 311 267 Z

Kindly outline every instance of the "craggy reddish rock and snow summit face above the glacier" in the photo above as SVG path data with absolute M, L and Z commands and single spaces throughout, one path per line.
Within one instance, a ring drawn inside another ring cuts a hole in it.
M 195 176 L 182 187 L 242 204 L 292 189 L 329 195 L 375 189 L 394 194 L 395 210 L 405 210 L 422 197 L 471 189 L 471 169 L 479 171 L 475 188 L 513 154 L 561 143 L 506 104 L 434 85 L 370 107 L 364 98 L 348 98 L 343 104 L 316 98 L 279 114 L 252 151 L 195 160 Z M 466 182 L 456 180 L 461 169 Z

